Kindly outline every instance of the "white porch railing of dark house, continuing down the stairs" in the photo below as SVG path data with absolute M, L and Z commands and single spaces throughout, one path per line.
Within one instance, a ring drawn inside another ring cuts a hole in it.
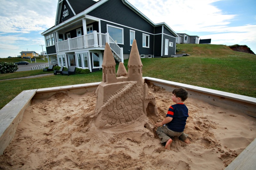
M 115 58 L 119 58 L 124 62 L 123 48 L 120 48 L 108 33 L 102 34 L 93 31 L 90 34 L 68 38 L 68 40 L 58 42 L 57 47 L 58 51 L 66 51 L 80 48 L 105 47 L 106 43 L 109 44 L 111 50 L 114 52 Z

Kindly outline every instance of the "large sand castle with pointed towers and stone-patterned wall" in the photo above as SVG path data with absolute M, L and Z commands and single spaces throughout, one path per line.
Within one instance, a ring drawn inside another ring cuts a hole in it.
M 102 82 L 96 95 L 95 126 L 104 128 L 107 125 L 130 122 L 142 114 L 157 115 L 156 100 L 148 91 L 148 85 L 142 78 L 142 63 L 133 40 L 128 73 L 124 64 L 119 63 L 116 77 L 116 63 L 112 51 L 106 43 L 103 64 Z

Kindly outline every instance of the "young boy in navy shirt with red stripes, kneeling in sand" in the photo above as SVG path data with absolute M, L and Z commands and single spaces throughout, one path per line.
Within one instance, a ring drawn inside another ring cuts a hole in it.
M 183 102 L 187 98 L 188 91 L 186 89 L 174 89 L 172 91 L 172 101 L 176 104 L 170 106 L 166 118 L 162 122 L 155 124 L 158 127 L 156 133 L 162 139 L 161 143 L 166 142 L 165 149 L 170 149 L 171 137 L 173 136 L 178 136 L 185 143 L 190 143 L 187 138 L 188 135 L 183 133 L 188 118 L 188 108 Z

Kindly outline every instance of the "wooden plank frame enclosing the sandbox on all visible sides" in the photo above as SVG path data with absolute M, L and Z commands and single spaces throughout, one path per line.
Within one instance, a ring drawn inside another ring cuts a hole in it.
M 256 98 L 151 77 L 143 77 L 143 79 L 146 83 L 152 83 L 166 91 L 183 87 L 188 90 L 188 97 L 256 117 Z M 3 154 L 12 141 L 23 113 L 33 99 L 46 99 L 57 92 L 82 95 L 86 92 L 95 92 L 99 84 L 100 82 L 96 82 L 22 91 L 0 110 L 0 154 Z M 226 169 L 251 169 L 252 167 L 256 167 L 256 139 Z

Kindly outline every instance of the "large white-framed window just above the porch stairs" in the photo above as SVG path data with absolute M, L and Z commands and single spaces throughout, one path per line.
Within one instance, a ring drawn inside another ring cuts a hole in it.
M 107 25 L 109 36 L 118 44 L 124 44 L 124 29 Z

